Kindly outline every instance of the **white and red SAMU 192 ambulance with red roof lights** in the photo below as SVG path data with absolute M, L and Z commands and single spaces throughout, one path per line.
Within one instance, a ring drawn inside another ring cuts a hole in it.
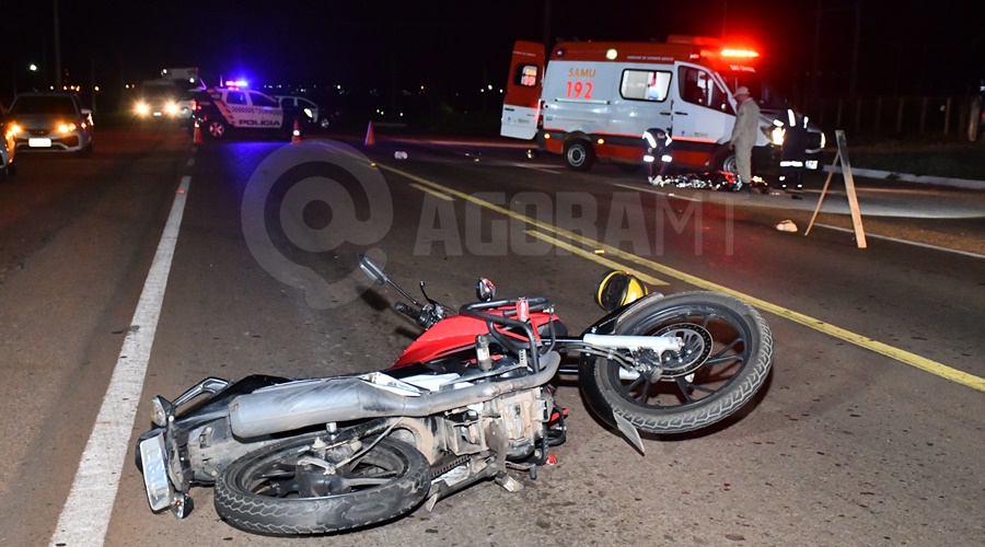
M 561 42 L 545 63 L 543 44 L 517 42 L 500 135 L 536 139 L 583 171 L 596 160 L 642 164 L 644 133 L 663 131 L 675 166 L 734 173 L 733 93 L 746 86 L 762 114 L 754 173 L 773 175 L 789 105 L 756 72 L 757 58 L 717 38 L 672 35 L 665 43 Z M 808 132 L 808 167 L 816 168 L 824 133 L 813 124 Z

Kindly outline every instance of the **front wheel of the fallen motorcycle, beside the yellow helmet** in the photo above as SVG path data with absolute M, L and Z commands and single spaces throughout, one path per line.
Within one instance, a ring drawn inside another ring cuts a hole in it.
M 773 335 L 760 313 L 717 292 L 644 302 L 619 317 L 613 334 L 672 334 L 691 350 L 662 363 L 660 374 L 636 377 L 621 377 L 618 363 L 602 357 L 582 360 L 581 389 L 592 409 L 611 424 L 614 412 L 648 433 L 685 433 L 727 418 L 755 396 L 773 365 Z

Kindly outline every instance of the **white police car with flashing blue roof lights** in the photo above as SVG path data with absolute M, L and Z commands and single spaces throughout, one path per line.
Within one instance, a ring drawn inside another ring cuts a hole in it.
M 212 88 L 199 92 L 192 104 L 195 120 L 202 132 L 213 139 L 225 137 L 230 129 L 290 131 L 280 104 L 258 91 L 242 88 Z

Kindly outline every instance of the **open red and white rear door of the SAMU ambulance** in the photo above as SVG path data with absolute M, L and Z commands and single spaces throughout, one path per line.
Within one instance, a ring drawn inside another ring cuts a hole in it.
M 537 135 L 544 61 L 544 44 L 518 40 L 513 45 L 499 135 L 526 140 Z

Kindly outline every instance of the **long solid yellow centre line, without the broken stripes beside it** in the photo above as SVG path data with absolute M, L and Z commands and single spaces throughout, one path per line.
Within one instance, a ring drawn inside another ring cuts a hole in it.
M 922 371 L 929 372 L 930 374 L 935 374 L 935 375 L 940 376 L 940 377 L 942 377 L 942 379 L 950 380 L 951 382 L 955 382 L 955 383 L 959 383 L 959 384 L 961 384 L 961 385 L 965 385 L 965 386 L 967 386 L 967 387 L 971 387 L 971 388 L 973 388 L 973 389 L 977 389 L 977 391 L 980 391 L 980 392 L 985 392 L 985 379 L 983 379 L 983 377 L 981 377 L 981 376 L 975 376 L 974 374 L 970 374 L 970 373 L 967 373 L 967 372 L 960 371 L 960 370 L 954 369 L 954 368 L 952 368 L 952 366 L 948 366 L 948 365 L 946 365 L 946 364 L 938 363 L 937 361 L 932 361 L 932 360 L 927 359 L 927 358 L 925 358 L 925 357 L 917 356 L 916 353 L 911 353 L 911 352 L 908 352 L 908 351 L 906 351 L 906 350 L 903 350 L 903 349 L 900 349 L 900 348 L 895 348 L 895 347 L 893 347 L 893 346 L 890 346 L 890 345 L 888 345 L 888 344 L 883 344 L 883 342 L 878 341 L 878 340 L 873 340 L 873 339 L 871 339 L 871 338 L 869 338 L 869 337 L 866 337 L 866 336 L 862 336 L 862 335 L 859 335 L 859 334 L 856 334 L 856 333 L 851 333 L 850 330 L 846 330 L 846 329 L 844 329 L 844 328 L 836 327 L 836 326 L 834 326 L 834 325 L 832 325 L 832 324 L 830 324 L 830 323 L 825 323 L 825 322 L 823 322 L 823 321 L 821 321 L 821 319 L 816 319 L 816 318 L 811 317 L 811 316 L 809 316 L 809 315 L 804 315 L 804 314 L 802 314 L 802 313 L 795 312 L 795 311 L 792 311 L 792 310 L 788 310 L 788 309 L 783 307 L 783 306 L 780 306 L 780 305 L 773 304 L 773 303 L 770 303 L 770 302 L 766 302 L 765 300 L 761 300 L 761 299 L 757 299 L 757 298 L 755 298 L 755 296 L 751 296 L 751 295 L 749 295 L 749 294 L 744 294 L 744 293 L 742 293 L 742 292 L 739 292 L 739 291 L 729 289 L 728 287 L 723 287 L 723 286 L 720 286 L 720 284 L 717 284 L 717 283 L 712 283 L 711 281 L 706 281 L 706 280 L 704 280 L 704 279 L 702 279 L 702 278 L 699 278 L 699 277 L 692 276 L 691 274 L 685 274 L 685 272 L 683 272 L 683 271 L 675 270 L 675 269 L 673 269 L 673 268 L 669 268 L 669 267 L 663 266 L 662 264 L 656 263 L 656 261 L 653 261 L 653 260 L 649 260 L 649 259 L 647 259 L 647 258 L 642 258 L 642 257 L 636 256 L 636 255 L 634 255 L 634 254 L 631 254 L 631 253 L 626 253 L 626 252 L 621 251 L 621 249 L 618 249 L 618 248 L 616 248 L 616 247 L 613 247 L 613 246 L 610 246 L 610 245 L 605 245 L 605 244 L 603 244 L 603 243 L 601 243 L 601 242 L 598 242 L 598 241 L 594 241 L 594 240 L 590 240 L 590 238 L 588 238 L 588 237 L 581 236 L 581 235 L 576 234 L 576 233 L 572 233 L 572 232 L 568 232 L 567 230 L 557 228 L 557 226 L 555 226 L 555 225 L 553 225 L 553 224 L 548 224 L 548 223 L 546 223 L 546 222 L 541 222 L 541 221 L 538 221 L 538 220 L 536 220 L 536 219 L 532 219 L 532 218 L 526 217 L 526 216 L 524 216 L 524 214 L 520 214 L 520 213 L 514 212 L 514 211 L 511 211 L 511 210 L 509 210 L 509 209 L 507 209 L 507 208 L 503 208 L 503 207 L 500 207 L 500 206 L 490 203 L 490 202 L 488 202 L 488 201 L 485 201 L 485 200 L 483 200 L 483 199 L 475 198 L 475 197 L 470 196 L 470 195 L 467 195 L 467 194 L 465 194 L 465 193 L 462 193 L 462 191 L 459 191 L 459 190 L 455 190 L 455 189 L 452 189 L 452 188 L 448 188 L 448 187 L 442 186 L 442 185 L 440 185 L 440 184 L 438 184 L 438 183 L 433 183 L 433 182 L 431 182 L 431 181 L 428 181 L 428 179 L 426 179 L 426 178 L 421 178 L 421 177 L 416 176 L 416 175 L 413 175 L 413 174 L 410 174 L 410 173 L 407 173 L 407 172 L 404 172 L 404 171 L 401 171 L 401 170 L 397 170 L 397 168 L 394 168 L 394 167 L 391 167 L 391 166 L 387 166 L 387 165 L 382 165 L 382 164 L 381 164 L 381 165 L 378 165 L 378 166 L 379 166 L 380 168 L 383 168 L 383 170 L 386 170 L 386 171 L 391 171 L 391 172 L 396 173 L 396 174 L 398 174 L 398 175 L 402 175 L 402 176 L 405 176 L 405 177 L 407 177 L 407 178 L 410 178 L 412 181 L 417 181 L 417 182 L 419 182 L 419 183 L 421 183 L 421 184 L 424 184 L 424 185 L 427 185 L 427 186 L 429 186 L 429 187 L 431 187 L 431 188 L 434 188 L 434 189 L 437 189 L 437 190 L 440 190 L 440 191 L 443 191 L 443 193 L 448 193 L 448 194 L 450 194 L 450 195 L 452 195 L 452 196 L 459 197 L 459 198 L 464 199 L 464 200 L 466 200 L 466 201 L 471 201 L 471 202 L 476 203 L 476 205 L 478 205 L 478 206 L 480 206 L 480 207 L 483 207 L 483 208 L 489 209 L 490 211 L 495 211 L 495 212 L 498 212 L 498 213 L 500 213 L 500 214 L 505 214 L 505 216 L 507 216 L 507 217 L 510 217 L 510 218 L 513 218 L 513 219 L 517 219 L 517 220 L 526 222 L 528 224 L 530 224 L 530 225 L 532 225 L 532 226 L 535 226 L 535 228 L 538 228 L 538 229 L 542 229 L 542 230 L 544 230 L 544 231 L 546 231 L 546 232 L 555 233 L 555 234 L 557 234 L 557 235 L 560 235 L 560 236 L 566 237 L 566 238 L 568 238 L 568 240 L 571 240 L 571 241 L 573 241 L 573 242 L 580 243 L 580 244 L 582 244 L 582 245 L 590 246 L 590 247 L 592 247 L 592 248 L 602 248 L 602 249 L 605 252 L 605 254 L 609 254 L 609 255 L 612 255 L 612 256 L 617 256 L 617 257 L 619 257 L 619 258 L 623 258 L 623 259 L 625 259 L 625 260 L 628 260 L 628 261 L 630 261 L 630 263 L 634 263 L 634 264 L 636 264 L 636 265 L 638 265 L 638 266 L 644 266 L 644 267 L 646 267 L 646 268 L 650 268 L 650 269 L 652 269 L 652 270 L 654 270 L 654 271 L 658 271 L 658 272 L 660 272 L 660 274 L 663 274 L 663 275 L 665 275 L 665 276 L 668 276 L 668 277 L 677 279 L 677 280 L 683 281 L 683 282 L 688 283 L 688 284 L 693 284 L 693 286 L 695 286 L 695 287 L 697 287 L 697 288 L 699 288 L 699 289 L 705 289 L 705 290 L 708 290 L 708 291 L 719 291 L 719 292 L 723 292 L 723 293 L 727 293 L 727 294 L 731 294 L 732 296 L 735 296 L 735 298 L 738 298 L 738 299 L 744 300 L 745 302 L 750 303 L 751 305 L 753 305 L 753 306 L 755 306 L 755 307 L 758 307 L 760 310 L 764 310 L 764 311 L 769 312 L 769 313 L 772 313 L 772 314 L 775 314 L 775 315 L 778 315 L 778 316 L 780 316 L 780 317 L 785 317 L 785 318 L 787 318 L 787 319 L 790 319 L 790 321 L 792 321 L 792 322 L 795 322 L 795 323 L 799 323 L 799 324 L 801 324 L 801 325 L 803 325 L 803 326 L 806 326 L 806 327 L 813 328 L 814 330 L 818 330 L 818 331 L 820 331 L 820 333 L 823 333 L 823 334 L 826 334 L 826 335 L 828 335 L 828 336 L 833 336 L 833 337 L 835 337 L 835 338 L 845 340 L 845 341 L 847 341 L 847 342 L 854 344 L 854 345 L 856 345 L 856 346 L 859 346 L 859 347 L 861 347 L 861 348 L 868 349 L 868 350 L 870 350 L 870 351 L 874 351 L 874 352 L 877 352 L 877 353 L 880 353 L 880 354 L 882 354 L 882 356 L 889 357 L 889 358 L 891 358 L 891 359 L 895 359 L 896 361 L 900 361 L 901 363 L 908 364 L 908 365 L 911 365 L 911 366 L 913 366 L 913 368 L 916 368 L 916 369 L 919 369 L 919 370 L 922 370 Z M 534 235 L 535 235 L 535 234 L 534 234 Z M 575 248 L 577 248 L 577 247 L 575 247 Z M 567 251 L 571 251 L 571 249 L 570 249 L 570 248 L 567 248 Z M 580 251 L 580 249 L 579 249 L 579 251 Z M 583 256 L 583 255 L 579 255 L 579 256 Z M 595 257 L 595 255 L 592 255 L 592 256 Z M 601 264 L 601 263 L 600 263 L 600 264 Z M 613 264 L 615 264 L 615 263 L 613 263 Z M 624 268 L 619 268 L 619 269 L 624 269 Z

